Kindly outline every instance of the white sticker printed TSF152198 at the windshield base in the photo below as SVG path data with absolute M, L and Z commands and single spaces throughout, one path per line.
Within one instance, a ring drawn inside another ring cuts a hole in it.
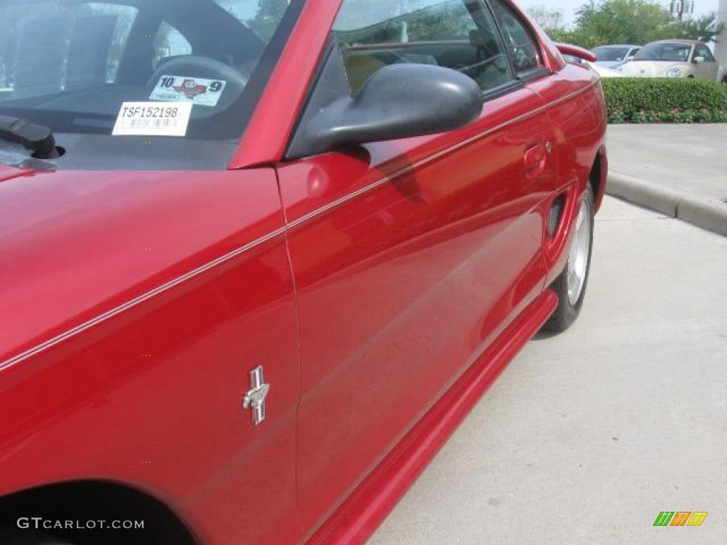
M 114 136 L 185 136 L 191 102 L 124 102 L 113 126 Z

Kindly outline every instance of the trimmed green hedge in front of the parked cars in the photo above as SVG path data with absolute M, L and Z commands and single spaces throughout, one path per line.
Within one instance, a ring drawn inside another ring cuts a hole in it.
M 727 123 L 727 85 L 701 79 L 602 81 L 609 123 Z

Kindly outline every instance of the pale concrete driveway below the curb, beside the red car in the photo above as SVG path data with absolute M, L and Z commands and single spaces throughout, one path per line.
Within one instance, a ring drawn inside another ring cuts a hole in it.
M 727 543 L 727 238 L 608 198 L 589 294 L 371 544 Z M 661 511 L 707 511 L 655 528 Z

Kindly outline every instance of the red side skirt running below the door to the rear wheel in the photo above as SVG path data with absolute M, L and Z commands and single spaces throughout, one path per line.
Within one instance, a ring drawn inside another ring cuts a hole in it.
M 363 544 L 557 305 L 558 297 L 550 289 L 531 303 L 324 522 L 308 545 Z

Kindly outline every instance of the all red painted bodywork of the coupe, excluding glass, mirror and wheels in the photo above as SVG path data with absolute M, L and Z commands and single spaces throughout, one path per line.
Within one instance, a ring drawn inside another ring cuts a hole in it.
M 553 73 L 474 124 L 282 162 L 339 5 L 306 4 L 230 171 L 0 166 L 0 496 L 110 480 L 204 544 L 364 541 L 553 311 L 597 157 L 605 188 L 593 73 L 534 29 Z

